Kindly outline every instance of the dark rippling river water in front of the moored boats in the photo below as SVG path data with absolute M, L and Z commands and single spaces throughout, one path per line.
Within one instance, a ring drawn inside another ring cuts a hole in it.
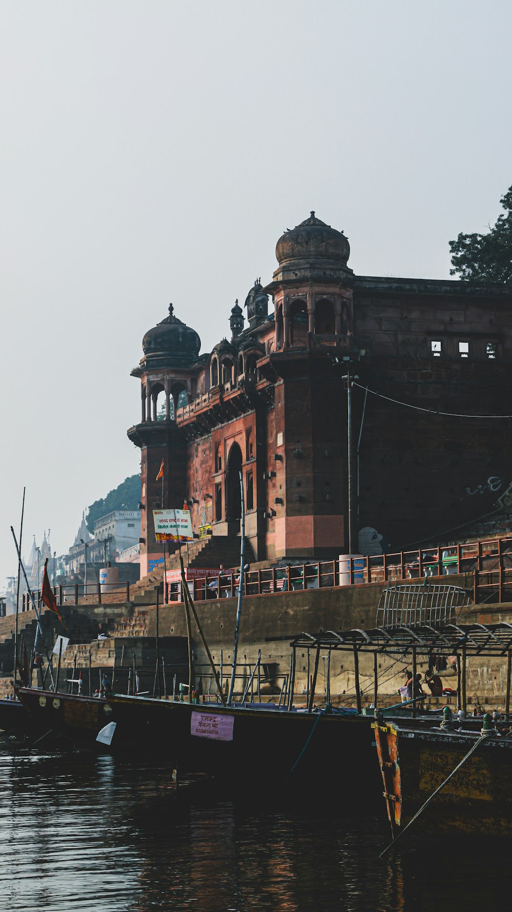
M 200 780 L 176 788 L 162 762 L 36 751 L 0 738 L 3 912 L 510 906 L 509 845 L 404 837 L 381 860 L 384 808 L 344 815 L 348 783 L 333 794 L 312 782 L 291 801 L 248 782 L 233 796 Z

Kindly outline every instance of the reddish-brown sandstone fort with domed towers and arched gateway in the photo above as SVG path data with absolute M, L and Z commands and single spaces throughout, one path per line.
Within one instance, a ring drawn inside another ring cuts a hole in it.
M 162 459 L 163 506 L 186 498 L 196 532 L 240 533 L 242 471 L 258 560 L 348 551 L 347 376 L 352 551 L 465 534 L 501 508 L 512 431 L 488 416 L 512 413 L 512 290 L 354 275 L 349 254 L 311 212 L 277 241 L 273 281 L 246 297 L 248 325 L 236 302 L 230 338 L 209 354 L 172 305 L 144 336 L 141 420 L 128 431 L 141 448 L 142 575 L 162 556 Z

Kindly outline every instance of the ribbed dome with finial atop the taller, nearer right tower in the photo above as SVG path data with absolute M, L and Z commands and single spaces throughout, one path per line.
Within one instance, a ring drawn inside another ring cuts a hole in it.
M 343 234 L 320 222 L 311 212 L 305 222 L 285 232 L 277 241 L 276 257 L 279 264 L 287 260 L 327 259 L 346 264 L 350 245 Z

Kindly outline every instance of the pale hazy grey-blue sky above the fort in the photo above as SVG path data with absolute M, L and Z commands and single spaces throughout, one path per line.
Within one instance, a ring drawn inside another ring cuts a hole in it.
M 202 350 L 315 209 L 362 275 L 445 278 L 512 183 L 512 5 L 0 2 L 0 588 L 139 469 L 144 332 Z

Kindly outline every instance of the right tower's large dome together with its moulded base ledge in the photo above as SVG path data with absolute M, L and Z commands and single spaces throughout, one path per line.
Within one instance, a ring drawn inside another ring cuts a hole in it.
M 350 244 L 336 228 L 320 222 L 315 212 L 277 241 L 279 264 L 274 278 L 338 278 L 350 275 Z

